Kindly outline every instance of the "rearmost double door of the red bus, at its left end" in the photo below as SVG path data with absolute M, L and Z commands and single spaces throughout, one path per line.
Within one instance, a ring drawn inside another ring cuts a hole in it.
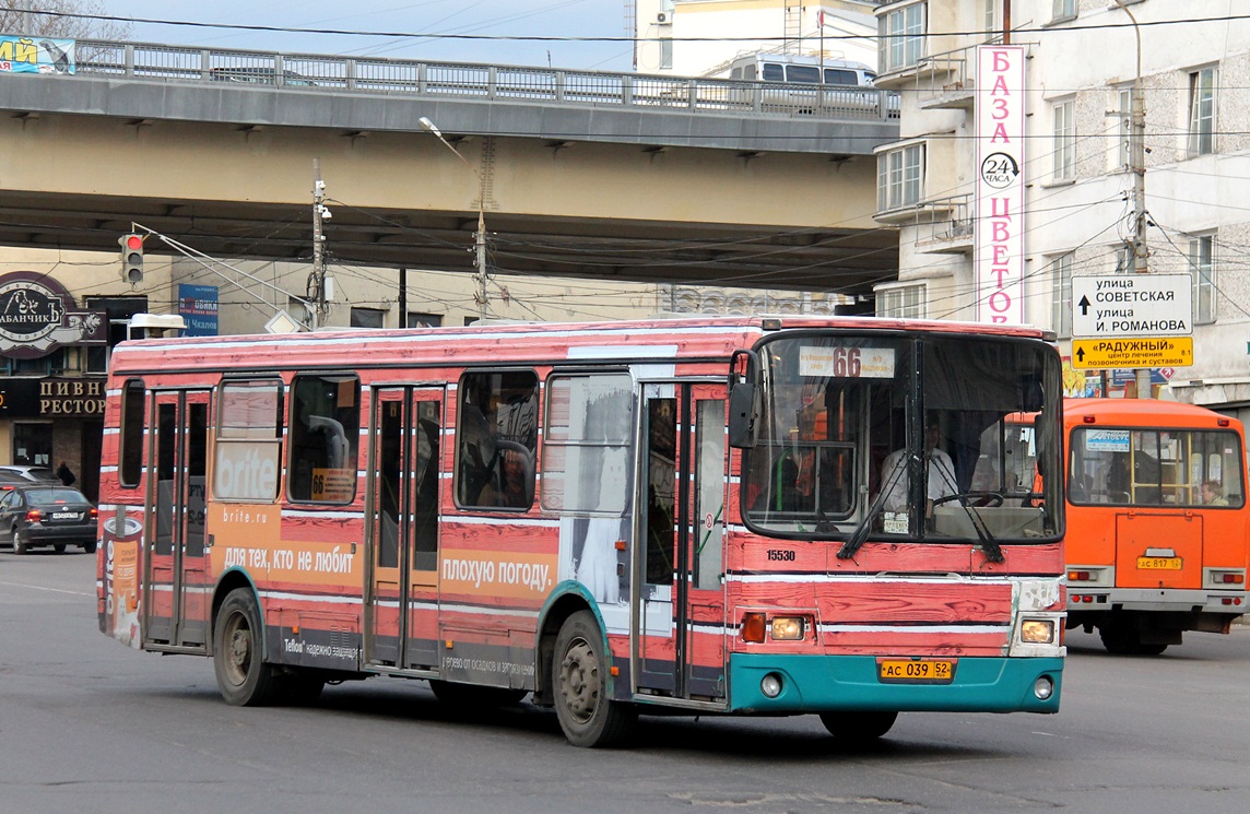
M 205 474 L 210 394 L 156 393 L 148 456 L 144 645 L 208 653 Z

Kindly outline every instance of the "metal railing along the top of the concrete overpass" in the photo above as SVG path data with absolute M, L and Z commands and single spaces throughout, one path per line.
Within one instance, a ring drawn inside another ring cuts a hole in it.
M 896 120 L 898 94 L 862 86 L 802 85 L 648 74 L 78 41 L 78 73 L 134 79 L 242 83 L 304 91 L 411 94 L 569 105 Z

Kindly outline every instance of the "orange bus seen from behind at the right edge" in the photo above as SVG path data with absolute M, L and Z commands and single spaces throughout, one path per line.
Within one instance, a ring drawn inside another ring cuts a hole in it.
M 1241 423 L 1150 399 L 1068 399 L 1068 625 L 1159 654 L 1245 613 Z

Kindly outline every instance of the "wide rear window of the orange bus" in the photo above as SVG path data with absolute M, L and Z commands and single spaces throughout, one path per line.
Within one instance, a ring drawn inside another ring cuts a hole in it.
M 1230 430 L 1078 426 L 1069 491 L 1074 504 L 1242 506 L 1241 444 Z

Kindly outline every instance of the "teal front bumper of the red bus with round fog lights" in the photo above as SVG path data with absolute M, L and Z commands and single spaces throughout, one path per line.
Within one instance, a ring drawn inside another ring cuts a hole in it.
M 730 711 L 755 714 L 822 713 L 848 709 L 968 713 L 1058 713 L 1062 658 L 958 659 L 949 684 L 888 683 L 871 655 L 768 655 L 729 658 Z M 766 696 L 764 676 L 781 679 L 781 693 Z M 1049 678 L 1045 700 L 1034 686 Z

